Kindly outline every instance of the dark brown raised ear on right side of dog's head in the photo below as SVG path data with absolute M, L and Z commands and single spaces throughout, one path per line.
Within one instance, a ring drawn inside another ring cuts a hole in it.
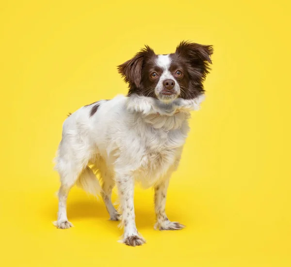
M 189 41 L 182 41 L 176 53 L 184 57 L 193 67 L 200 68 L 202 74 L 206 76 L 210 70 L 211 58 L 213 54 L 212 46 L 204 46 Z

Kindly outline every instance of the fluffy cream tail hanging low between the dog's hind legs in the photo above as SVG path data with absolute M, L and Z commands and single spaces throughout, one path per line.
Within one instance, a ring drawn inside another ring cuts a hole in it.
M 88 166 L 80 174 L 76 185 L 92 195 L 99 195 L 101 191 L 96 175 Z

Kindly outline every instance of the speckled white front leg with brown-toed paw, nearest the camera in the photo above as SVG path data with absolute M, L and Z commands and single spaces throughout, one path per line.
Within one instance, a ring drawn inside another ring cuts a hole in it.
M 119 175 L 116 180 L 120 198 L 121 225 L 124 227 L 122 242 L 128 246 L 140 246 L 146 243 L 146 240 L 138 235 L 135 225 L 134 178 L 131 175 Z

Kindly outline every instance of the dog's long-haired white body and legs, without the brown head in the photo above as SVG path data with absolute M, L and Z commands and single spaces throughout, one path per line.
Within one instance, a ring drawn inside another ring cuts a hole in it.
M 135 226 L 133 205 L 134 183 L 139 182 L 145 188 L 164 188 L 156 190 L 156 227 L 178 227 L 176 222 L 161 219 L 166 218 L 165 192 L 171 173 L 178 167 L 189 131 L 190 111 L 197 110 L 202 100 L 203 95 L 192 100 L 177 98 L 167 104 L 150 97 L 118 95 L 112 100 L 99 101 L 93 116 L 90 116 L 93 105 L 71 114 L 64 122 L 55 159 L 55 169 L 61 177 L 55 225 L 72 226 L 67 220 L 66 198 L 75 184 L 93 194 L 100 192 L 111 220 L 117 220 L 111 202 L 116 184 L 123 242 L 134 237 L 136 244 L 144 243 Z M 102 187 L 96 172 L 100 173 Z

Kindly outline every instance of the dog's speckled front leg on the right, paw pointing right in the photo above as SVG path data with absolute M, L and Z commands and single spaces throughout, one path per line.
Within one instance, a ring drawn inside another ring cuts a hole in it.
M 180 230 L 185 226 L 177 221 L 170 221 L 166 216 L 166 195 L 169 186 L 169 177 L 160 182 L 155 187 L 155 212 L 156 224 L 155 229 L 159 230 Z

